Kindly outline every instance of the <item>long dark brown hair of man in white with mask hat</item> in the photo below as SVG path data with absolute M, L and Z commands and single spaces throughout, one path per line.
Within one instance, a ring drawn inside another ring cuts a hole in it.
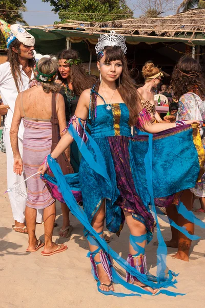
M 20 44 L 22 44 L 22 43 L 20 43 L 16 38 L 10 44 L 9 50 L 8 50 L 8 56 L 7 56 L 7 61 L 10 63 L 11 73 L 12 73 L 12 76 L 13 76 L 13 79 L 14 79 L 18 93 L 20 92 L 18 82 L 20 81 L 23 85 L 22 76 L 21 76 L 20 68 L 19 68 L 20 61 L 19 61 L 19 57 L 18 57 L 18 54 L 20 53 Z M 17 49 L 18 53 L 14 52 L 12 50 L 13 47 L 15 49 Z M 34 58 L 29 59 L 29 66 L 34 67 L 34 65 L 35 65 L 35 59 Z

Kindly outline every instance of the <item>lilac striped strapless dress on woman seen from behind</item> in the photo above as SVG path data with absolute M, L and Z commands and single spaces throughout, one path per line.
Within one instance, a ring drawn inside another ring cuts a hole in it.
M 23 164 L 26 177 L 35 174 L 44 161 L 45 156 L 51 152 L 52 131 L 50 122 L 35 122 L 23 119 Z M 46 184 L 36 175 L 27 180 L 28 199 L 26 206 L 36 209 L 46 208 L 55 199 L 48 191 Z

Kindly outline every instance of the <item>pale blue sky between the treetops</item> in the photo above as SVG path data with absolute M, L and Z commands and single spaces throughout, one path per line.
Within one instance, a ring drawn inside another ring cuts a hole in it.
M 128 0 L 127 3 L 131 9 L 134 9 L 137 1 Z M 173 2 L 176 7 L 182 0 L 173 0 Z M 58 15 L 51 12 L 53 7 L 50 6 L 50 3 L 44 3 L 42 0 L 27 0 L 26 7 L 27 12 L 24 12 L 23 16 L 29 26 L 53 25 L 55 21 L 59 21 Z M 134 17 L 138 17 L 140 13 L 138 9 L 134 9 Z M 172 15 L 173 9 L 166 13 L 166 15 L 168 14 Z

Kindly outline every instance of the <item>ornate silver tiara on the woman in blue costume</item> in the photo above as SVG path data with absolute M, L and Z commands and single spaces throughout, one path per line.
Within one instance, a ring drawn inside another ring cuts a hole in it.
M 110 31 L 110 34 L 101 34 L 95 46 L 96 53 L 103 51 L 106 46 L 119 46 L 124 53 L 127 53 L 125 45 L 125 36 L 115 34 L 115 31 Z

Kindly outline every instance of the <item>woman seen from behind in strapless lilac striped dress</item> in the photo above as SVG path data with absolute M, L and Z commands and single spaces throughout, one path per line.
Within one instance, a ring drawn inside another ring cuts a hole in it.
M 45 155 L 51 151 L 52 145 L 52 96 L 56 96 L 56 112 L 60 131 L 66 127 L 64 98 L 59 92 L 60 86 L 55 83 L 57 62 L 50 58 L 42 58 L 34 66 L 35 79 L 38 85 L 20 92 L 15 103 L 15 110 L 10 130 L 11 146 L 14 156 L 13 171 L 17 175 L 23 173 L 26 178 L 36 174 Z M 54 94 L 53 94 L 54 93 Z M 18 148 L 18 128 L 20 121 L 24 123 L 23 157 Z M 50 256 L 67 249 L 64 244 L 52 242 L 55 222 L 55 199 L 48 191 L 46 184 L 35 175 L 27 180 L 26 224 L 29 235 L 27 252 L 36 252 L 44 247 L 42 255 Z M 37 240 L 35 235 L 36 209 L 44 209 L 45 244 Z

